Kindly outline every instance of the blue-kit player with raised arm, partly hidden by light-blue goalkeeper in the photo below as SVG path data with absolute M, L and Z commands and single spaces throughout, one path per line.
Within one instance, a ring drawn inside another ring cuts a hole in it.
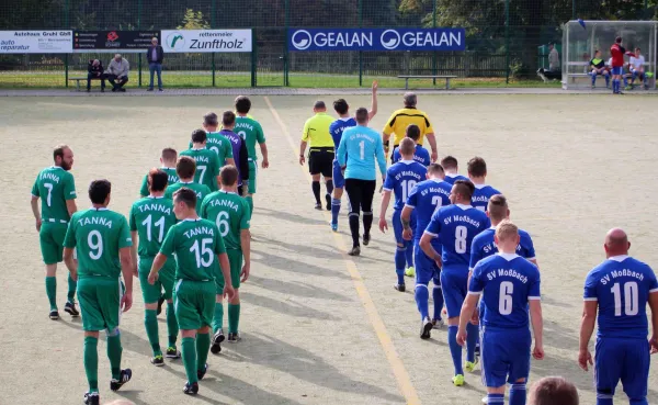
M 356 121 L 350 116 L 350 105 L 344 99 L 338 99 L 333 102 L 333 110 L 340 116 L 331 123 L 329 132 L 333 138 L 336 150 L 340 146 L 342 133 L 349 127 L 356 126 Z M 373 99 L 371 110 L 367 115 L 372 120 L 377 113 L 377 81 L 373 81 Z M 331 229 L 338 232 L 338 214 L 340 214 L 340 199 L 342 198 L 345 187 L 345 178 L 343 176 L 345 168 L 338 162 L 338 156 L 333 158 L 333 193 L 331 198 Z

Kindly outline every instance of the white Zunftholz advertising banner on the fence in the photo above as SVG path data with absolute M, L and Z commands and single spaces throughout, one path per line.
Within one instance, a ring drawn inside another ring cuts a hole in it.
M 162 30 L 170 53 L 251 52 L 251 30 Z

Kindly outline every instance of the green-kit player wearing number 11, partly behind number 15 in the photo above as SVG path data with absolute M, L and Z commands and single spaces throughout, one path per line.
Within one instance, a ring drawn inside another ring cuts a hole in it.
M 179 329 L 175 322 L 172 299 L 175 261 L 173 259 L 167 260 L 155 285 L 150 285 L 147 281 L 154 259 L 158 251 L 160 251 L 162 240 L 164 240 L 164 235 L 175 224 L 173 202 L 164 199 L 167 182 L 168 176 L 163 170 L 152 169 L 148 173 L 150 193 L 148 196 L 133 204 L 128 220 L 131 236 L 133 238 L 133 247 L 131 248 L 133 273 L 139 278 L 139 283 L 141 284 L 145 306 L 144 326 L 146 327 L 146 335 L 154 351 L 150 362 L 157 367 L 164 365 L 158 336 L 157 315 L 161 290 L 164 290 L 163 299 L 167 301 L 167 328 L 169 331 L 167 358 L 180 358 L 180 352 L 175 349 Z M 139 235 L 139 251 L 136 249 L 137 235 Z M 137 254 L 139 254 L 139 258 L 137 258 Z

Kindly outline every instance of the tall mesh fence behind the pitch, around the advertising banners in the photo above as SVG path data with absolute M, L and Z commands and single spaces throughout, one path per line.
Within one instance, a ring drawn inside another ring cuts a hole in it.
M 168 54 L 167 86 L 358 87 L 400 74 L 450 74 L 470 81 L 534 77 L 538 47 L 561 41 L 572 19 L 653 20 L 658 0 L 3 0 L 2 30 L 252 29 L 251 54 Z M 287 50 L 294 27 L 466 30 L 465 52 Z M 0 55 L 0 87 L 64 87 L 109 54 Z M 145 55 L 127 54 L 131 86 L 145 85 Z

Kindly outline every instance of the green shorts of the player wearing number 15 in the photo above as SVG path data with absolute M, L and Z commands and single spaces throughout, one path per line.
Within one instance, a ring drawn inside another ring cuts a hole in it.
M 215 314 L 215 283 L 178 280 L 173 293 L 175 320 L 181 330 L 211 326 Z

